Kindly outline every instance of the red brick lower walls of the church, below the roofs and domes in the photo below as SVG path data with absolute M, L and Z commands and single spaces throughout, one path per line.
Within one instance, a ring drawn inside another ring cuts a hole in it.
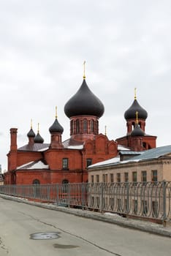
M 79 149 L 48 149 L 47 151 L 10 151 L 9 160 L 9 184 L 33 184 L 38 179 L 40 184 L 62 183 L 64 179 L 69 183 L 81 183 L 88 181 L 87 159 L 92 159 L 92 164 L 110 159 L 118 154 L 117 143 L 108 140 L 105 135 L 96 135 L 94 140 L 87 140 L 84 148 Z M 63 158 L 68 158 L 68 169 L 63 170 Z M 41 170 L 17 170 L 17 167 L 42 159 L 49 169 Z M 12 167 L 11 167 L 12 166 Z M 15 168 L 14 168 L 15 166 Z M 12 173 L 11 170 L 16 170 Z

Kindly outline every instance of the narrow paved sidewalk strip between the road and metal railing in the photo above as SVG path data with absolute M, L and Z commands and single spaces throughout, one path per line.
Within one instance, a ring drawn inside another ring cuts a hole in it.
M 19 198 L 19 197 L 10 197 L 7 195 L 0 195 L 0 196 L 7 200 L 15 200 L 17 202 L 23 202 L 33 206 L 47 208 L 54 211 L 63 211 L 66 214 L 74 214 L 78 217 L 96 219 L 102 222 L 109 222 L 115 225 L 134 228 L 134 229 L 145 231 L 148 233 L 153 233 L 159 236 L 167 236 L 171 238 L 171 225 L 168 227 L 164 227 L 163 225 L 159 225 L 153 222 L 123 218 L 118 214 L 110 214 L 110 213 L 100 214 L 99 212 L 86 211 L 86 210 L 76 209 L 76 208 L 61 207 L 61 206 L 56 206 L 55 204 L 37 203 L 33 201 L 28 201 L 26 199 Z

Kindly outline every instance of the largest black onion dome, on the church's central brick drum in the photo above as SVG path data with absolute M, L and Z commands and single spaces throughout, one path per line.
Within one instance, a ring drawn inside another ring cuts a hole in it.
M 104 105 L 88 88 L 84 79 L 77 93 L 66 102 L 64 112 L 69 118 L 71 116 L 97 116 L 100 118 L 104 113 Z

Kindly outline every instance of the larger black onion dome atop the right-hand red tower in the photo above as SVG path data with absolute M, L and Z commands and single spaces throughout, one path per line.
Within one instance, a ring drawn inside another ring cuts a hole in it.
M 136 112 L 138 112 L 138 118 L 140 119 L 146 119 L 148 117 L 147 111 L 140 106 L 137 99 L 134 99 L 131 107 L 124 113 L 125 119 L 134 119 L 136 117 Z

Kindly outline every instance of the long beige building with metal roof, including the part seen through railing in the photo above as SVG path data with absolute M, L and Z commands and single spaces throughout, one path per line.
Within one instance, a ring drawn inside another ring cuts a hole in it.
M 94 206 L 141 217 L 171 219 L 171 146 L 121 151 L 120 157 L 89 166 L 88 182 L 93 187 L 90 200 Z M 96 192 L 99 187 L 103 188 L 102 195 Z

